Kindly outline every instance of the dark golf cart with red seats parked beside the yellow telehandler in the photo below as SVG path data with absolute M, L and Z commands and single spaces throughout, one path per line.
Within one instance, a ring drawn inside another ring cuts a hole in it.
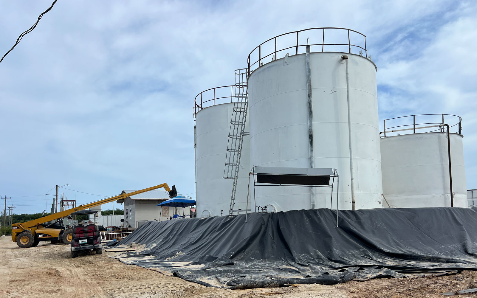
M 95 210 L 80 210 L 73 212 L 71 215 L 95 214 Z M 77 224 L 73 226 L 73 238 L 71 240 L 71 257 L 78 257 L 81 250 L 94 250 L 97 255 L 103 253 L 101 245 L 101 237 L 98 227 L 95 224 Z

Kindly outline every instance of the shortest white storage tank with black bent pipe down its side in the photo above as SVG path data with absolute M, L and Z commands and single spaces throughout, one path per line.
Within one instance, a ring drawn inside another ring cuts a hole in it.
M 460 117 L 411 115 L 384 120 L 381 165 L 384 207 L 451 206 L 447 128 L 454 206 L 467 208 L 467 183 Z M 444 127 L 444 129 L 442 128 Z

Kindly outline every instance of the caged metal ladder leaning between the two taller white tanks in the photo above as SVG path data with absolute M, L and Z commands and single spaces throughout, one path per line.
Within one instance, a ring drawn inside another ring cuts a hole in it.
M 232 213 L 236 211 L 234 210 L 235 194 L 237 192 L 237 180 L 239 178 L 243 137 L 249 134 L 245 132 L 248 107 L 247 69 L 238 69 L 235 71 L 234 106 L 230 119 L 230 131 L 228 133 L 227 155 L 224 169 L 224 178 L 233 179 L 234 181 L 232 196 L 230 198 L 230 209 L 228 211 L 229 215 L 232 215 Z

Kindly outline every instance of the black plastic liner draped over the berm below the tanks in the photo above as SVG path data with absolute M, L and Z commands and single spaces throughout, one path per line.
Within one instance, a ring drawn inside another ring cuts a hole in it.
M 382 208 L 150 221 L 124 243 L 125 264 L 206 286 L 331 285 L 477 269 L 474 209 Z M 119 245 L 121 247 L 121 245 Z

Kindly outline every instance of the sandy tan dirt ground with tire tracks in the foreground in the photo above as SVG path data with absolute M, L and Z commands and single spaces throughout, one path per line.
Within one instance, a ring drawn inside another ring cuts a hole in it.
M 207 288 L 154 270 L 124 265 L 108 257 L 108 253 L 92 253 L 72 259 L 68 245 L 40 244 L 38 247 L 19 248 L 10 237 L 0 237 L 0 298 L 442 298 L 446 296 L 439 293 L 469 287 L 477 288 L 477 271 L 443 277 L 351 281 L 334 286 L 311 284 L 245 290 Z

